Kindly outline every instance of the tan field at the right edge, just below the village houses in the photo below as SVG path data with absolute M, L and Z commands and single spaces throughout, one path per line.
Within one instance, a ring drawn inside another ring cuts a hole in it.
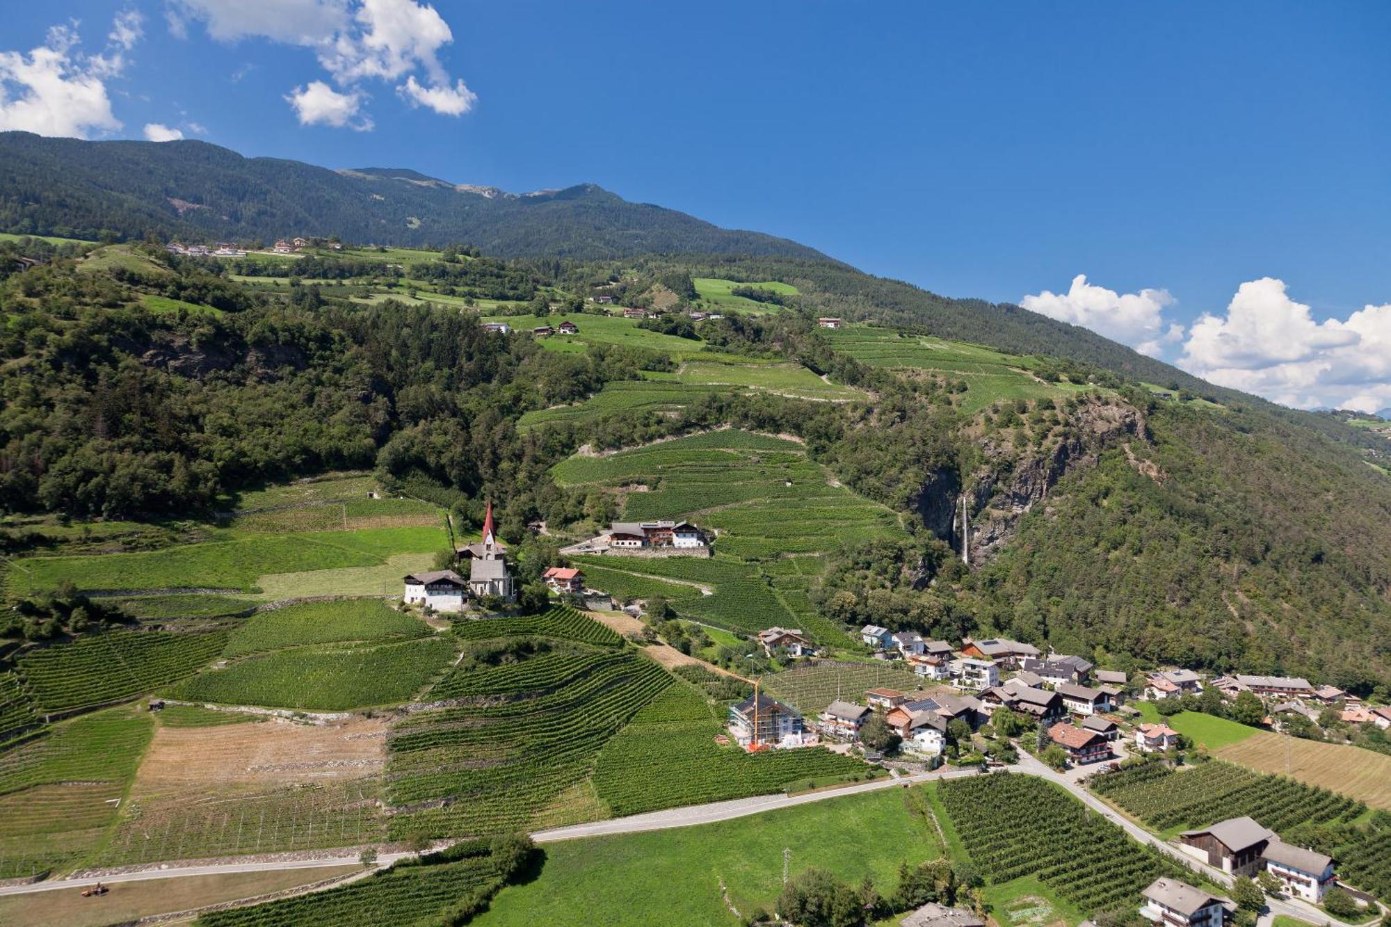
M 1289 775 L 1301 782 L 1337 789 L 1372 807 L 1391 810 L 1391 756 L 1384 753 L 1257 731 L 1223 746 L 1217 756 L 1259 772 L 1281 774 L 1288 760 Z

